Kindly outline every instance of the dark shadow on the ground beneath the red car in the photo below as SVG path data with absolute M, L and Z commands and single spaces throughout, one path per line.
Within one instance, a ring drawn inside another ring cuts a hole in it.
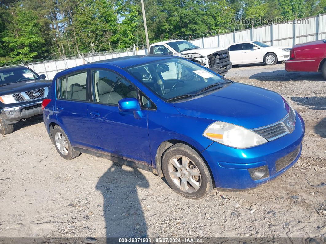
M 284 69 L 260 72 L 249 77 L 261 81 L 290 81 L 290 80 L 311 80 L 325 81 L 321 73 L 318 72 L 288 72 Z

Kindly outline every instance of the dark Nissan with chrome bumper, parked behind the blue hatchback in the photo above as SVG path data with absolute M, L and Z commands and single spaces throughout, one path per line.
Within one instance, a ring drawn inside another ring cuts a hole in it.
M 42 114 L 42 101 L 51 80 L 27 67 L 0 68 L 0 134 L 13 132 L 13 124 Z

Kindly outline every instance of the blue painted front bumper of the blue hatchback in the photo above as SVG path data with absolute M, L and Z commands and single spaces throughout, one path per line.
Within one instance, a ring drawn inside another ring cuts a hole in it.
M 249 189 L 275 179 L 294 165 L 301 154 L 303 136 L 304 121 L 297 113 L 295 129 L 290 134 L 247 149 L 231 148 L 214 142 L 202 155 L 211 168 L 216 187 Z M 280 163 L 284 165 L 281 168 Z M 268 167 L 267 177 L 253 180 L 248 169 L 262 166 Z

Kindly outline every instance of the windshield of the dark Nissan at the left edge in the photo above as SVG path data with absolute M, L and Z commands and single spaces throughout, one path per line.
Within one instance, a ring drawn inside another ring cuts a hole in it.
M 0 85 L 31 79 L 40 79 L 40 77 L 25 67 L 0 70 Z

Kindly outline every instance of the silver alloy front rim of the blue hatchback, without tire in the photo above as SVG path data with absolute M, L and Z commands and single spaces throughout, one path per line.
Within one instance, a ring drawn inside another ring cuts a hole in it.
M 169 161 L 169 174 L 174 184 L 182 191 L 192 193 L 201 185 L 201 176 L 196 164 L 187 157 L 177 155 Z

